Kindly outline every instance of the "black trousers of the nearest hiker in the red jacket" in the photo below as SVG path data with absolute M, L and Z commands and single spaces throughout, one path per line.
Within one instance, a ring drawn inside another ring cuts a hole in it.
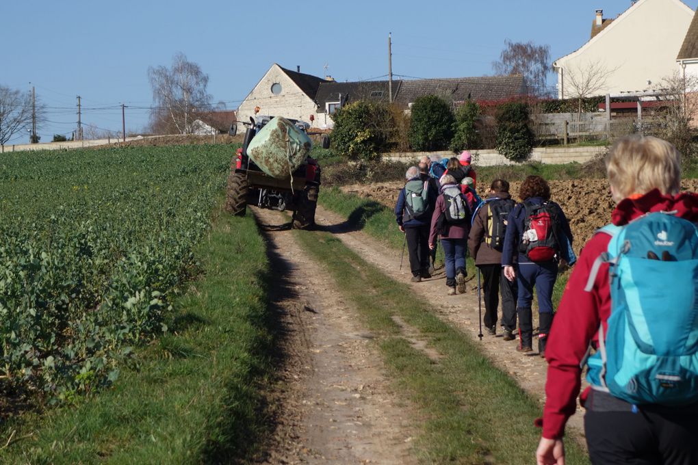
M 596 394 L 592 392 L 595 397 Z M 584 416 L 584 432 L 594 465 L 698 464 L 695 407 L 676 413 L 647 407 L 633 413 L 629 409 L 597 410 L 594 406 Z

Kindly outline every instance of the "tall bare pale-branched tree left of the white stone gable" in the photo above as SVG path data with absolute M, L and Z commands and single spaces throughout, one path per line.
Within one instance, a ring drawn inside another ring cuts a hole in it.
M 148 68 L 148 78 L 153 88 L 153 128 L 171 125 L 180 134 L 190 133 L 197 113 L 211 106 L 211 96 L 206 92 L 208 75 L 179 52 L 172 58 L 171 68 Z M 168 123 L 162 119 L 168 119 Z

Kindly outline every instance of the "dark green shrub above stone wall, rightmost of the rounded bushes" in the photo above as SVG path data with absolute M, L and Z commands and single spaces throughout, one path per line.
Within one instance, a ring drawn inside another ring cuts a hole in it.
M 507 102 L 497 109 L 496 119 L 497 151 L 508 160 L 526 160 L 535 140 L 528 126 L 528 105 Z

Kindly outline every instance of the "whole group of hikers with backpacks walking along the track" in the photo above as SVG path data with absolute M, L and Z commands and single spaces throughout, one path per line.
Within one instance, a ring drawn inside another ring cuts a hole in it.
M 565 424 L 586 369 L 580 402 L 593 464 L 698 464 L 698 195 L 681 192 L 676 148 L 657 137 L 616 141 L 606 158 L 616 208 L 579 259 L 544 178 L 528 176 L 518 203 L 504 179 L 481 199 L 471 162 L 463 151 L 410 167 L 396 222 L 413 282 L 434 273 L 440 243 L 447 294 L 465 294 L 473 257 L 482 323 L 496 335 L 501 296 L 503 339 L 518 335 L 524 353 L 533 352 L 535 289 L 537 349 L 548 363 L 537 463 L 565 463 Z M 572 265 L 555 309 L 558 271 Z

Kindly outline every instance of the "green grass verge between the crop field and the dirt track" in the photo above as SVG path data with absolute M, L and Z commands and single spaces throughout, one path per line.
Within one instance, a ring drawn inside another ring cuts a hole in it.
M 274 344 L 267 255 L 253 218 L 221 213 L 170 335 L 111 390 L 6 425 L 0 462 L 221 463 L 260 452 Z

